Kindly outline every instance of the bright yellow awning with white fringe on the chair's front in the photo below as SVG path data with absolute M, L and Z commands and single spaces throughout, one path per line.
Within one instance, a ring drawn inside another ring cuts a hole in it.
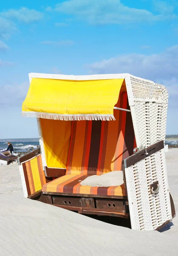
M 68 81 L 33 78 L 22 116 L 59 120 L 112 120 L 124 79 Z

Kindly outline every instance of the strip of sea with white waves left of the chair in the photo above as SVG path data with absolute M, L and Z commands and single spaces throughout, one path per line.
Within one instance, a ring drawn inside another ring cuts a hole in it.
M 0 149 L 5 149 L 8 147 L 7 143 L 11 142 L 14 151 L 27 151 L 28 148 L 37 148 L 39 144 L 39 139 L 3 139 L 0 140 Z

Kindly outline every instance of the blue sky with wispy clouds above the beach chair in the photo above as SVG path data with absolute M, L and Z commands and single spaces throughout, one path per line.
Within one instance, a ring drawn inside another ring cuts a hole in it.
M 167 134 L 178 134 L 178 0 L 0 3 L 0 139 L 38 137 L 22 118 L 28 74 L 130 73 L 169 92 Z

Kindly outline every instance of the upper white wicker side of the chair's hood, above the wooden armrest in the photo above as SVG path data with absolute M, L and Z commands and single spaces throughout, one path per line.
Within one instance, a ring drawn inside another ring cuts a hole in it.
M 139 148 L 165 140 L 168 93 L 161 84 L 130 76 L 134 106 L 131 106 Z

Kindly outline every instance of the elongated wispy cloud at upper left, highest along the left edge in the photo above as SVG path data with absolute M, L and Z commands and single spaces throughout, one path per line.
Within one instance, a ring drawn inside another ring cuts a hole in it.
M 20 9 L 9 9 L 6 12 L 1 12 L 1 15 L 3 17 L 9 18 L 9 19 L 16 19 L 19 21 L 23 21 L 25 23 L 38 21 L 43 18 L 42 12 L 38 12 L 34 9 L 28 9 L 25 7 L 22 7 Z

